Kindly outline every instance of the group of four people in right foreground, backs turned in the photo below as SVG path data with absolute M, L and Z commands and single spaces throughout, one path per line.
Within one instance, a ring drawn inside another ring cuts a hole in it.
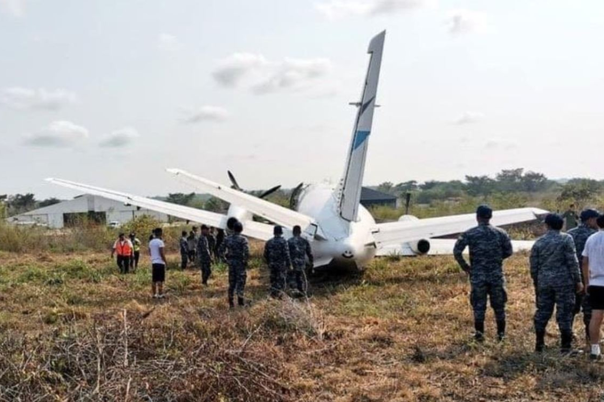
M 503 260 L 512 255 L 506 231 L 490 225 L 492 209 L 477 209 L 478 226 L 467 230 L 455 243 L 453 254 L 471 283 L 475 339 L 484 341 L 487 298 L 495 312 L 497 337 L 506 334 L 506 281 Z M 568 214 L 565 214 L 568 219 Z M 535 288 L 535 351 L 545 348 L 545 328 L 556 308 L 562 353 L 572 350 L 573 321 L 583 312 L 590 358 L 599 360 L 600 327 L 604 317 L 604 215 L 594 209 L 580 213 L 580 225 L 562 232 L 564 218 L 545 216 L 547 232 L 536 240 L 530 253 L 530 276 Z M 573 226 L 568 225 L 567 227 Z M 599 229 L 599 230 L 598 230 Z M 470 262 L 463 257 L 469 248 Z

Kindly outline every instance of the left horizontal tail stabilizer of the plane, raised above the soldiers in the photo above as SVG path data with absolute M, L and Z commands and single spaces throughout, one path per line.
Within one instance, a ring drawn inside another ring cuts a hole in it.
M 279 225 L 288 228 L 300 225 L 302 230 L 306 230 L 309 225 L 314 223 L 312 218 L 302 213 L 281 207 L 277 204 L 269 203 L 269 201 L 262 198 L 231 189 L 222 184 L 214 183 L 213 181 L 185 172 L 181 169 L 167 169 L 167 171 L 190 186 L 220 198 L 227 203 L 242 207 L 255 215 L 262 216 L 262 218 L 268 219 Z

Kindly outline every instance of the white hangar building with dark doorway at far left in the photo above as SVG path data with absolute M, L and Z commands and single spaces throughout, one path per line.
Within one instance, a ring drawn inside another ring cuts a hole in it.
M 7 222 L 13 224 L 36 223 L 60 229 L 75 225 L 85 219 L 92 219 L 99 224 L 108 224 L 109 222 L 124 224 L 141 215 L 152 216 L 160 222 L 168 221 L 168 216 L 165 213 L 125 205 L 96 195 L 84 194 L 68 201 L 61 201 L 48 207 L 11 216 L 7 218 Z

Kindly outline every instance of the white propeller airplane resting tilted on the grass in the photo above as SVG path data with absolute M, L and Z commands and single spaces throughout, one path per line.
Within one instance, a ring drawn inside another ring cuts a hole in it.
M 232 187 L 214 183 L 181 169 L 167 169 L 170 174 L 184 183 L 229 203 L 230 207 L 226 214 L 68 180 L 48 178 L 47 181 L 217 228 L 228 228 L 234 219 L 237 219 L 243 224 L 243 234 L 260 240 L 268 240 L 272 237 L 273 225 L 254 221 L 254 216 L 283 226 L 286 237 L 292 235 L 291 230 L 295 225 L 300 225 L 303 236 L 310 241 L 315 256 L 315 268 L 346 266 L 362 269 L 374 257 L 390 254 L 400 256 L 451 254 L 455 240 L 434 237 L 461 233 L 471 228 L 476 224 L 474 214 L 428 219 L 403 215 L 399 221 L 378 224 L 370 212 L 359 203 L 373 112 L 377 107 L 377 83 L 384 39 L 385 31 L 382 31 L 369 43 L 367 52 L 370 58 L 367 75 L 362 87 L 361 100 L 353 103 L 357 107 L 356 118 L 341 180 L 335 186 L 300 184 L 292 193 L 292 209 L 243 192 L 230 172 Z M 547 211 L 536 208 L 500 210 L 493 213 L 492 224 L 509 225 L 532 221 L 545 213 Z M 513 247 L 516 251 L 527 250 L 532 243 L 514 241 Z

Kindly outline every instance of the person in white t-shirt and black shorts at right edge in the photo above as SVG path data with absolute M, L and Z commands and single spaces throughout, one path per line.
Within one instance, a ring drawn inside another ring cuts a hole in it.
M 590 359 L 602 359 L 600 327 L 604 318 L 604 215 L 597 218 L 599 231 L 588 237 L 583 248 L 583 281 L 590 297 Z

